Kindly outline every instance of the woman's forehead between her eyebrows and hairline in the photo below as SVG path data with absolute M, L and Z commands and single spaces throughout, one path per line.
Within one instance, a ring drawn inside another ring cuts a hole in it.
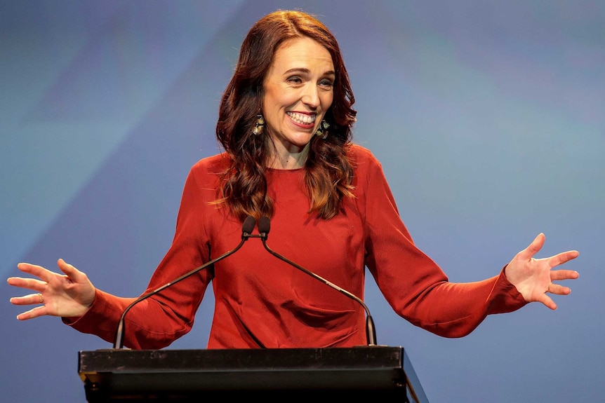
M 321 43 L 303 36 L 288 39 L 279 45 L 273 56 L 274 68 L 305 68 L 317 67 L 333 70 L 332 55 Z

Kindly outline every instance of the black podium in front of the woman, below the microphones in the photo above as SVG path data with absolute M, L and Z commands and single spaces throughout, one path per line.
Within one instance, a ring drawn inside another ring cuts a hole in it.
M 92 350 L 79 352 L 78 372 L 89 403 L 214 396 L 428 402 L 401 347 Z

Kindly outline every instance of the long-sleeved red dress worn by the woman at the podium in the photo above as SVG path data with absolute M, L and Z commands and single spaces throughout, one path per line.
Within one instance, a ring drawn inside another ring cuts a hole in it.
M 274 217 L 267 245 L 363 299 L 367 267 L 390 306 L 413 325 L 460 337 L 492 313 L 526 302 L 503 271 L 487 280 L 448 282 L 413 243 L 401 221 L 382 167 L 370 151 L 352 146 L 355 198 L 330 220 L 308 214 L 304 170 L 267 170 Z M 173 243 L 147 291 L 234 249 L 241 223 L 216 200 L 219 154 L 196 163 L 187 177 Z M 212 285 L 215 312 L 207 348 L 321 348 L 366 344 L 361 305 L 272 256 L 258 238 L 239 251 L 152 298 L 126 315 L 124 346 L 157 349 L 186 334 Z M 134 299 L 97 290 L 90 310 L 65 322 L 113 342 L 117 322 Z

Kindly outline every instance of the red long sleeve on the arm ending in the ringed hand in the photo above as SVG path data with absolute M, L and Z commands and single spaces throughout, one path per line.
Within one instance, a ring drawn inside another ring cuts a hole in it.
M 201 200 L 215 198 L 215 193 L 211 190 L 214 184 L 207 185 L 199 184 L 192 172 L 188 175 L 172 246 L 141 295 L 172 282 L 209 260 L 203 220 L 207 206 Z M 207 197 L 204 193 L 212 193 L 212 196 Z M 200 271 L 152 298 L 136 303 L 125 318 L 124 346 L 164 348 L 189 332 L 211 276 L 211 269 Z M 91 309 L 83 317 L 65 318 L 64 322 L 80 332 L 114 342 L 119 318 L 133 301 L 135 298 L 122 298 L 97 289 Z

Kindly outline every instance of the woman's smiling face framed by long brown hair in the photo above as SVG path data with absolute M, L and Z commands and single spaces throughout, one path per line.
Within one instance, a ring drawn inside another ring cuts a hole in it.
M 279 151 L 300 153 L 332 104 L 334 64 L 328 50 L 303 37 L 282 43 L 262 83 L 262 114 Z

